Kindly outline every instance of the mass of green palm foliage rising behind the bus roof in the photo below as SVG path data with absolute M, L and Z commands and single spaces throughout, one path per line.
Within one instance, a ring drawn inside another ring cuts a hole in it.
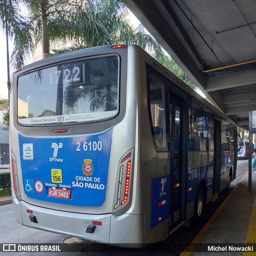
M 28 10 L 26 17 L 21 15 L 21 4 Z M 66 43 L 67 39 L 74 44 L 53 50 L 54 54 L 111 44 L 138 44 L 195 90 L 195 84 L 164 54 L 156 40 L 125 19 L 127 14 L 121 0 L 12 0 L 0 3 L 2 26 L 7 27 L 10 37 L 14 38 L 11 58 L 14 68 L 24 65 L 26 56 L 41 42 L 43 56 L 50 56 L 50 48 L 60 42 Z

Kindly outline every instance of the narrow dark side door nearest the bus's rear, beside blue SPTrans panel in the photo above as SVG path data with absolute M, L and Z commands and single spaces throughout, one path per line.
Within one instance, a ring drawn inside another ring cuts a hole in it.
M 182 103 L 170 96 L 170 218 L 169 226 L 178 224 L 182 216 Z

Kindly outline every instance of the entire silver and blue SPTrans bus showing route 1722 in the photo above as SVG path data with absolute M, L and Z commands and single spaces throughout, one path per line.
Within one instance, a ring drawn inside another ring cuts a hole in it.
M 16 221 L 121 247 L 165 240 L 236 176 L 236 124 L 136 45 L 12 74 Z

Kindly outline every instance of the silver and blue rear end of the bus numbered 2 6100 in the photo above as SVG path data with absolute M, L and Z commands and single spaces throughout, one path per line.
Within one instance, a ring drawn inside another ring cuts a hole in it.
M 136 81 L 126 86 L 136 76 L 127 78 L 127 55 L 128 47 L 81 50 L 12 75 L 10 155 L 18 223 L 142 246 L 144 219 L 132 202 Z

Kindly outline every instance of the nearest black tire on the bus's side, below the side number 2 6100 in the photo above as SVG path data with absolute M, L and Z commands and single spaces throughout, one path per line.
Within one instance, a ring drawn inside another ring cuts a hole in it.
M 193 224 L 198 224 L 202 220 L 204 204 L 204 188 L 202 184 L 199 184 L 198 189 L 196 191 L 194 216 L 191 219 Z

